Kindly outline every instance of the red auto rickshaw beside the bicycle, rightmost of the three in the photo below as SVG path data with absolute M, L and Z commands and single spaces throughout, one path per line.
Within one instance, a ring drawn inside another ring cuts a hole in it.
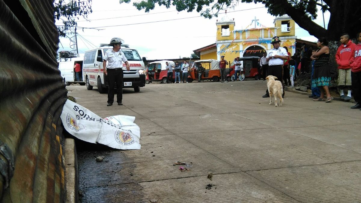
M 249 57 L 240 57 L 239 61 L 241 62 L 241 73 L 238 75 L 238 79 L 243 81 L 245 78 L 255 78 L 255 80 L 260 79 L 260 74 L 258 73 L 258 56 L 249 56 Z M 235 81 L 234 78 L 235 73 L 235 65 L 231 65 L 231 72 L 227 75 L 228 81 Z

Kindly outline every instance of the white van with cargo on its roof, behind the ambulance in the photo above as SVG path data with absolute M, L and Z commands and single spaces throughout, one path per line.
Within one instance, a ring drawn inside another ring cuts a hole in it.
M 65 85 L 70 85 L 70 83 L 79 83 L 80 85 L 85 85 L 82 77 L 82 71 L 79 74 L 79 80 L 75 78 L 74 65 L 75 62 L 80 64 L 80 67 L 83 65 L 83 56 L 79 57 L 61 57 L 59 61 L 58 68 L 60 70 L 61 77 L 63 77 L 63 81 Z

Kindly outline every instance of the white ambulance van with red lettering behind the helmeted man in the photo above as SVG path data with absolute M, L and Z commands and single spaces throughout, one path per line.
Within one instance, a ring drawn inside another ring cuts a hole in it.
M 135 92 L 139 92 L 140 87 L 145 86 L 143 62 L 145 61 L 145 57 L 142 59 L 139 56 L 138 51 L 129 48 L 126 44 L 122 44 L 121 46 L 121 51 L 124 53 L 130 65 L 130 70 L 126 71 L 126 66 L 123 64 L 123 88 L 134 88 Z M 113 47 L 108 45 L 103 46 L 103 44 L 101 44 L 99 48 L 85 52 L 83 61 L 83 78 L 85 79 L 88 90 L 92 90 L 93 87 L 97 87 L 99 93 L 103 94 L 107 92 L 108 80 L 104 75 L 103 56 L 106 51 L 112 48 Z

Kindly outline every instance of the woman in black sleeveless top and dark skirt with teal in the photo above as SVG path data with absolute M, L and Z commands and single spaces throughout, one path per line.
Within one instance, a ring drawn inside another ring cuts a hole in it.
M 326 38 L 321 37 L 317 41 L 319 49 L 312 56 L 312 60 L 316 60 L 314 64 L 314 74 L 312 77 L 312 87 L 319 87 L 321 96 L 313 101 L 325 101 L 323 98 L 327 96 L 326 102 L 331 102 L 334 98 L 330 95 L 329 86 L 331 84 L 330 73 L 330 48 Z M 321 88 L 322 87 L 322 88 Z

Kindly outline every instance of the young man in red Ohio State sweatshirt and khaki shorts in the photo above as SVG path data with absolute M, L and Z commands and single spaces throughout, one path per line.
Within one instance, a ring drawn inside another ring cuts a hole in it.
M 340 98 L 344 100 L 351 99 L 351 67 L 350 59 L 352 57 L 352 48 L 355 47 L 355 43 L 350 40 L 348 34 L 343 34 L 340 37 L 341 45 L 336 52 L 336 62 L 338 66 L 338 86 L 340 88 Z M 348 89 L 347 96 L 344 95 L 344 88 Z

